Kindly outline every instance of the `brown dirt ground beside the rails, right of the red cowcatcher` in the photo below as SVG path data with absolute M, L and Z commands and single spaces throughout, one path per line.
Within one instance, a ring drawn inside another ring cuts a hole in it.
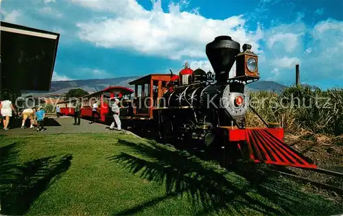
M 329 137 L 322 134 L 312 134 L 310 132 L 285 134 L 285 143 L 313 160 L 319 168 L 343 173 L 343 135 Z M 304 178 L 343 189 L 342 178 L 293 167 L 287 167 L 287 169 Z M 342 195 L 334 191 L 323 190 L 311 184 L 306 184 L 304 190 L 321 193 L 329 200 L 343 203 Z

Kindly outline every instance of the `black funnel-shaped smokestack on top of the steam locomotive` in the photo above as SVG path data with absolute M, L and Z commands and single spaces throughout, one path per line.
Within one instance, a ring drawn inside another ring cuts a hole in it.
M 230 36 L 217 36 L 215 40 L 206 45 L 206 56 L 215 71 L 217 82 L 228 80 L 228 73 L 233 67 L 239 51 L 239 43 L 232 40 Z

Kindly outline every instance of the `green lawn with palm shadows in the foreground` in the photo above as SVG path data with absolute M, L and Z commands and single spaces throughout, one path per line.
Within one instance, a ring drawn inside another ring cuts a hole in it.
M 126 134 L 0 137 L 5 215 L 335 215 L 267 169 L 225 171 Z

